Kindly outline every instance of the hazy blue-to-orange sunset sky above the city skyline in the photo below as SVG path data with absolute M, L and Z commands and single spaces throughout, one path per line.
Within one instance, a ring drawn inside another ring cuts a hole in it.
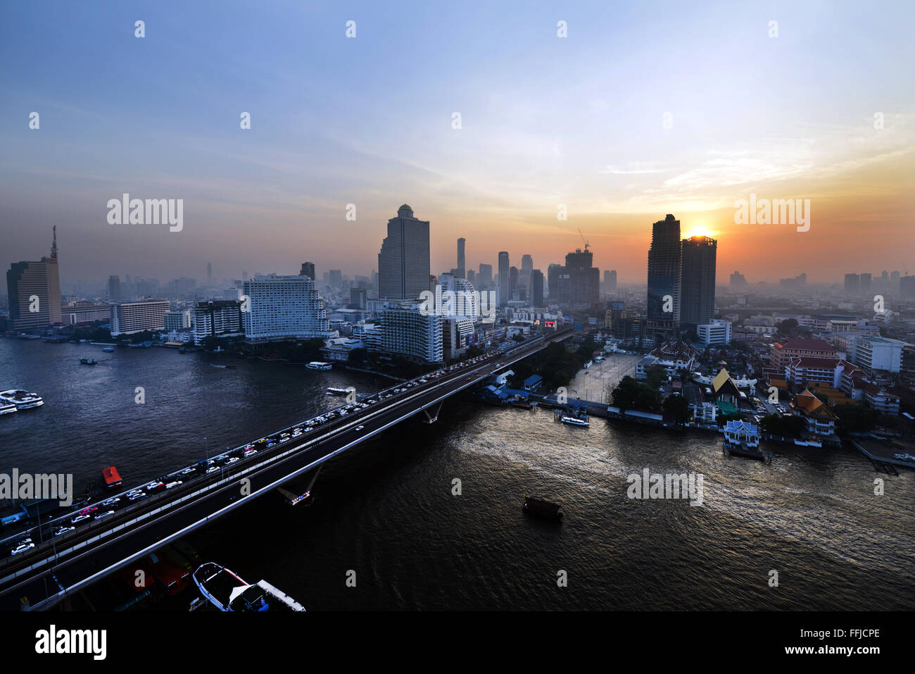
M 911 2 L 8 4 L 0 266 L 48 255 L 56 224 L 65 287 L 208 262 L 367 275 L 406 202 L 433 274 L 460 236 L 468 267 L 508 250 L 544 273 L 584 238 L 644 283 L 666 213 L 718 240 L 719 282 L 915 273 L 913 19 Z M 124 192 L 183 199 L 182 230 L 108 223 Z M 810 200 L 809 231 L 735 223 L 750 194 Z

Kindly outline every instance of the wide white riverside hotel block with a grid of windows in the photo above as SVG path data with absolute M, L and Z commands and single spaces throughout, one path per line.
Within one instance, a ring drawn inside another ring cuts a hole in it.
M 336 337 L 330 330 L 324 300 L 305 276 L 256 276 L 244 282 L 242 306 L 246 342 Z M 246 309 L 246 310 L 245 310 Z

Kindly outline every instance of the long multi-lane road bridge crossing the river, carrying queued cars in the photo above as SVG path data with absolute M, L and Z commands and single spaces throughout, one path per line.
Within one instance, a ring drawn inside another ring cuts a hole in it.
M 72 523 L 77 515 L 74 511 L 17 534 L 9 539 L 13 547 L 26 538 L 35 547 L 0 560 L 0 611 L 47 609 L 71 592 L 206 526 L 405 419 L 422 415 L 425 422 L 433 423 L 448 397 L 570 335 L 571 331 L 557 332 L 503 345 L 438 374 L 362 397 L 364 408 L 279 430 L 268 436 L 275 441 L 253 443 L 257 451 L 249 449 L 246 456 L 244 451 L 252 443 L 224 451 L 210 462 L 191 464 L 183 472 L 168 475 L 167 488 L 157 486 L 157 491 L 135 500 L 128 499 L 129 492 L 106 495 L 98 503 L 83 506 L 96 509 L 77 525 Z M 115 497 L 120 499 L 117 504 L 102 505 L 102 501 Z M 94 518 L 109 510 L 113 510 L 110 515 Z

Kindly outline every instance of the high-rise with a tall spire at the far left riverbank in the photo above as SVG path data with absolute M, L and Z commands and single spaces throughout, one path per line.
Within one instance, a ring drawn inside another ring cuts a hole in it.
M 62 322 L 57 226 L 50 257 L 39 262 L 14 262 L 6 272 L 9 318 L 14 330 L 39 330 Z

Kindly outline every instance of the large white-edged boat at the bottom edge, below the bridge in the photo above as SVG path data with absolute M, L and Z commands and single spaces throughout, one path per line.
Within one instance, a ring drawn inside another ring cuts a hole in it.
M 194 571 L 194 582 L 200 594 L 220 611 L 305 611 L 302 604 L 269 582 L 245 582 L 212 561 L 200 564 Z

